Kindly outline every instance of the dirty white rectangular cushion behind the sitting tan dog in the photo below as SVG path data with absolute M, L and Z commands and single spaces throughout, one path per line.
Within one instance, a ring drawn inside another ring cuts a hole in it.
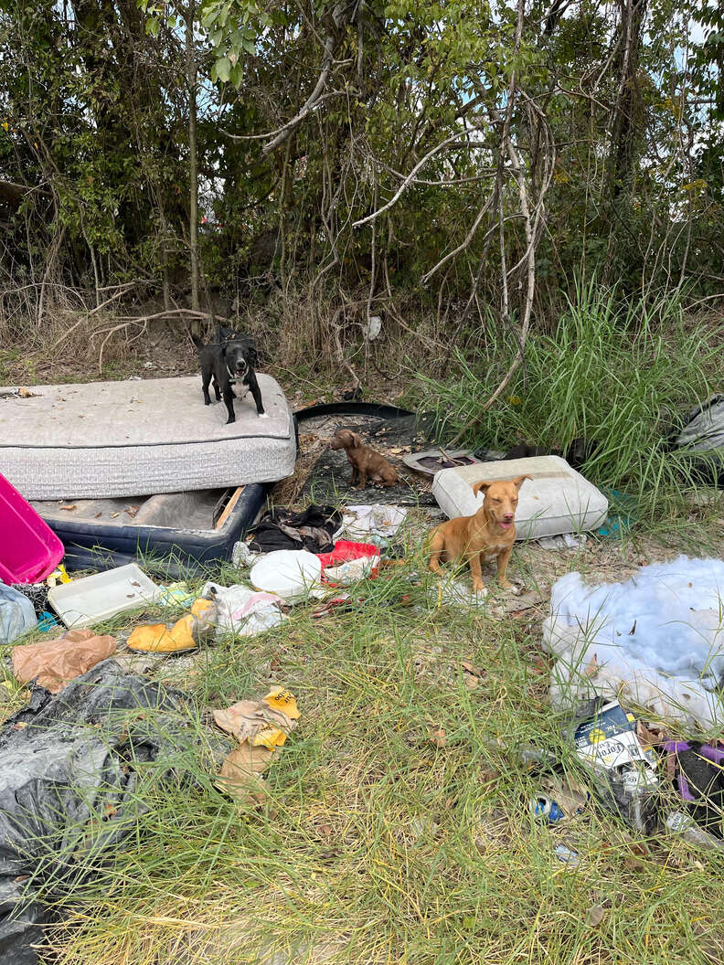
M 559 455 L 482 462 L 442 469 L 432 481 L 432 495 L 452 519 L 470 516 L 483 505 L 473 495 L 473 483 L 530 476 L 520 487 L 515 513 L 515 538 L 537 539 L 597 529 L 608 513 L 608 500 L 593 483 Z

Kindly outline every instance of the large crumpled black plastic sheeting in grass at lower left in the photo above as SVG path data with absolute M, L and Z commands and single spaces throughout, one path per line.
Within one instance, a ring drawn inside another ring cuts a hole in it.
M 181 693 L 112 658 L 55 697 L 33 688 L 0 728 L 2 965 L 38 961 L 45 902 L 97 871 L 148 810 L 139 791 L 182 780 L 199 738 Z M 222 745 L 209 731 L 211 757 Z

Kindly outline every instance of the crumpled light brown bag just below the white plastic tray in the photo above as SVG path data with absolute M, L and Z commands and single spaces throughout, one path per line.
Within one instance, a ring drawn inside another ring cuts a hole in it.
M 55 640 L 13 648 L 13 673 L 20 683 L 36 680 L 51 694 L 59 694 L 116 649 L 116 638 L 93 630 L 69 630 Z

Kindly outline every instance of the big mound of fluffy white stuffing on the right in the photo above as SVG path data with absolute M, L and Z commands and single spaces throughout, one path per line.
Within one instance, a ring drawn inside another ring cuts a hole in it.
M 642 566 L 626 583 L 553 586 L 543 649 L 554 654 L 551 703 L 616 697 L 661 718 L 724 724 L 724 562 Z

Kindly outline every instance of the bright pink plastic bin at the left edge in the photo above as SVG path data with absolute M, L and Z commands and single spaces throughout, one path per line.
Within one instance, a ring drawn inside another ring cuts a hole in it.
M 63 543 L 0 475 L 0 580 L 40 583 L 63 559 Z

